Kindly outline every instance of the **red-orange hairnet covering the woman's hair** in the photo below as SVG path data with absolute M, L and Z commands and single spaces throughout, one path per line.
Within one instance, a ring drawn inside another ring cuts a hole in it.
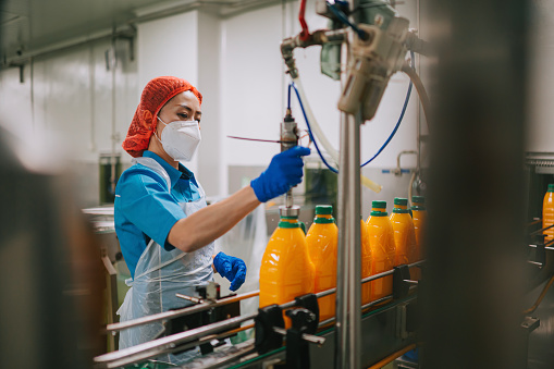
M 202 95 L 187 81 L 164 76 L 150 81 L 140 96 L 140 103 L 128 127 L 127 137 L 123 140 L 123 149 L 133 157 L 141 157 L 148 149 L 150 136 L 158 125 L 158 112 L 172 97 L 183 91 L 192 91 L 200 104 Z

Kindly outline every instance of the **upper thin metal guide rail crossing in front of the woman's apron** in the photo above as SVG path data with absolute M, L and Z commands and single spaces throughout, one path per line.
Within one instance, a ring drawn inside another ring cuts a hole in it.
M 155 315 L 151 315 L 151 316 L 138 318 L 138 319 L 135 319 L 135 320 L 128 320 L 128 321 L 124 321 L 124 322 L 115 323 L 115 324 L 108 324 L 108 327 L 106 328 L 106 331 L 108 331 L 108 332 L 119 332 L 119 331 L 122 331 L 122 330 L 125 330 L 125 329 L 128 329 L 128 328 L 132 328 L 132 327 L 153 323 L 155 321 L 158 321 L 158 320 L 167 320 L 167 319 L 173 319 L 173 318 L 189 316 L 192 313 L 204 311 L 204 310 L 208 310 L 208 309 L 213 308 L 213 307 L 223 306 L 223 305 L 227 305 L 227 304 L 231 304 L 231 303 L 241 302 L 243 299 L 256 297 L 259 294 L 260 294 L 260 291 L 257 290 L 257 291 L 248 292 L 246 294 L 241 294 L 241 295 L 236 295 L 236 296 L 233 296 L 233 297 L 222 298 L 222 299 L 217 300 L 214 303 L 211 303 L 211 302 L 210 303 L 202 303 L 202 304 L 198 304 L 198 305 L 192 306 L 192 307 L 186 307 L 186 308 L 183 308 L 183 309 L 180 309 L 180 310 L 164 311 L 164 312 L 155 313 Z

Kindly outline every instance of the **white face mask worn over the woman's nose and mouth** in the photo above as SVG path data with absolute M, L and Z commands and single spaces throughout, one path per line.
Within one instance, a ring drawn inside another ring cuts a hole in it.
M 165 124 L 161 139 L 156 135 L 165 152 L 174 160 L 190 161 L 202 139 L 198 121 L 175 121 L 168 124 L 159 116 L 158 120 Z

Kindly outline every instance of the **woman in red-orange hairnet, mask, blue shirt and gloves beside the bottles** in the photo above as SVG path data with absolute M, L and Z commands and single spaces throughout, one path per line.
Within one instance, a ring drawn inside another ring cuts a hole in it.
M 274 156 L 250 186 L 207 207 L 199 182 L 180 163 L 189 161 L 200 144 L 201 102 L 188 82 L 155 78 L 123 142 L 134 159 L 115 189 L 115 231 L 132 274 L 118 311 L 121 321 L 187 306 L 175 293 L 195 295 L 195 286 L 211 281 L 213 272 L 230 280 L 231 290 L 238 288 L 246 275 L 244 261 L 223 253 L 213 258 L 213 241 L 260 202 L 301 181 L 301 157 L 309 149 L 297 147 Z M 151 323 L 124 330 L 120 348 L 150 341 L 161 329 Z

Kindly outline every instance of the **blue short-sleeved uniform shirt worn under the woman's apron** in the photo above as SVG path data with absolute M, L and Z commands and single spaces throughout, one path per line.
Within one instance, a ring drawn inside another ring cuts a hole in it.
M 176 221 L 186 217 L 178 202 L 200 198 L 198 183 L 184 165 L 180 163 L 176 170 L 151 151 L 144 151 L 143 156 L 155 159 L 168 172 L 171 193 L 162 176 L 141 164 L 124 171 L 118 181 L 113 205 L 115 233 L 133 278 L 150 239 L 168 250 L 174 249 L 168 235 Z

